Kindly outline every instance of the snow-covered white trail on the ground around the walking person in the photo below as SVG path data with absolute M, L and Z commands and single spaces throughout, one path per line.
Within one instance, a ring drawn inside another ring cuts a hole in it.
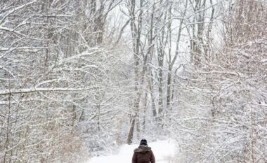
M 172 163 L 169 158 L 173 157 L 176 151 L 176 146 L 173 141 L 155 141 L 148 142 L 151 147 L 156 163 Z M 119 148 L 117 155 L 93 157 L 86 163 L 131 163 L 133 150 L 138 147 L 138 144 L 123 145 Z

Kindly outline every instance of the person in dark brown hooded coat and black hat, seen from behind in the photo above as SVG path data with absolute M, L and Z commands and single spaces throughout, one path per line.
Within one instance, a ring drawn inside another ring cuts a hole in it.
M 142 139 L 140 146 L 134 150 L 131 163 L 155 163 L 155 156 L 145 139 Z

